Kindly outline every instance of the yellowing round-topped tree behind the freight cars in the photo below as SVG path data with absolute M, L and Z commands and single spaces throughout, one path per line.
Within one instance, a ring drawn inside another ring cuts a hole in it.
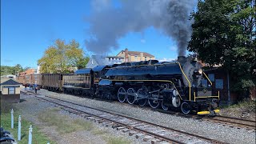
M 42 73 L 67 73 L 78 66 L 82 58 L 85 58 L 84 52 L 79 48 L 78 42 L 72 40 L 66 44 L 65 41 L 57 39 L 38 60 L 38 65 L 41 66 Z

